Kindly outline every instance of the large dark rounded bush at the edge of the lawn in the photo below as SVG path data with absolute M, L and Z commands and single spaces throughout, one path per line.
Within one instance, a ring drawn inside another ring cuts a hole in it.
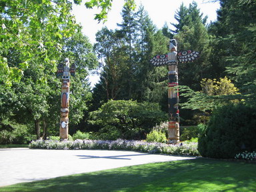
M 203 157 L 234 158 L 243 151 L 256 150 L 256 111 L 242 104 L 230 104 L 213 111 L 199 136 Z

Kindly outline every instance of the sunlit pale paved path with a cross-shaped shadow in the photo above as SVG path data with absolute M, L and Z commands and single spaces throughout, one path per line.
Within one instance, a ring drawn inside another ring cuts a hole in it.
M 145 163 L 193 159 L 134 151 L 0 149 L 0 186 Z

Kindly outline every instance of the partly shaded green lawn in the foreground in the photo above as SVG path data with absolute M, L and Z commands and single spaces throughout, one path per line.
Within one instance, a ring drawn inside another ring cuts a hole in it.
M 72 165 L 71 165 L 72 166 Z M 256 164 L 192 159 L 19 183 L 0 191 L 256 191 Z

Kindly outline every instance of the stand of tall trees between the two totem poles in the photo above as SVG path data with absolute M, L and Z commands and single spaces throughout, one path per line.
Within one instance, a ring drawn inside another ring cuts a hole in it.
M 93 90 L 95 105 L 101 101 L 129 100 L 159 102 L 167 91 L 167 67 L 153 67 L 149 59 L 167 53 L 169 39 L 157 31 L 143 7 L 123 7 L 120 29 L 101 29 L 95 49 L 104 66 Z M 164 104 L 166 107 L 166 103 Z

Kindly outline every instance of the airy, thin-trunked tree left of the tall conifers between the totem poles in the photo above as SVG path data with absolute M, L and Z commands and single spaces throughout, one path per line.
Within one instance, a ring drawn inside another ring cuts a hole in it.
M 100 94 L 106 95 L 107 100 L 121 99 L 124 97 L 123 94 L 126 94 L 121 92 L 121 86 L 126 81 L 122 77 L 127 68 L 125 61 L 129 57 L 125 42 L 117 35 L 117 32 L 106 27 L 96 34 L 96 40 L 95 50 L 103 61 L 101 81 L 103 81 L 102 85 L 105 87 L 105 93 Z

